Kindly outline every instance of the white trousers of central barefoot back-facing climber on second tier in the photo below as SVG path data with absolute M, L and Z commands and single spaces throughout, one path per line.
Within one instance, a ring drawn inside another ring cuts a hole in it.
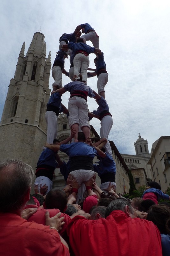
M 68 99 L 69 127 L 73 124 L 79 124 L 80 128 L 89 125 L 88 104 L 81 97 L 72 97 Z

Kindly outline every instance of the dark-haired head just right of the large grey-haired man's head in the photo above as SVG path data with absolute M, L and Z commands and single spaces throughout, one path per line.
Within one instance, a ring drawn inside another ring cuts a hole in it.
M 52 188 L 46 194 L 45 203 L 46 209 L 59 209 L 63 212 L 67 206 L 67 195 L 62 189 Z

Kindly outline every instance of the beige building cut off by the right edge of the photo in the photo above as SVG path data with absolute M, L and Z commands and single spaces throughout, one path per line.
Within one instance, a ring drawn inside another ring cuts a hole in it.
M 152 180 L 159 183 L 162 191 L 170 184 L 170 136 L 161 136 L 152 144 L 151 166 Z

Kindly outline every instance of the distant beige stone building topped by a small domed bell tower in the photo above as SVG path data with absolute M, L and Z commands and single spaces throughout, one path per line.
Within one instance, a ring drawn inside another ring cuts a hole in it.
M 121 154 L 127 167 L 131 170 L 135 186 L 147 186 L 147 182 L 151 181 L 152 175 L 148 165 L 150 159 L 148 142 L 141 138 L 139 134 L 138 140 L 134 143 L 136 155 Z

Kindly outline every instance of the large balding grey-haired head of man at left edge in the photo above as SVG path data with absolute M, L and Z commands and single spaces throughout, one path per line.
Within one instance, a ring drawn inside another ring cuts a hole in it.
M 0 212 L 12 212 L 24 206 L 33 176 L 32 167 L 23 161 L 0 161 Z

